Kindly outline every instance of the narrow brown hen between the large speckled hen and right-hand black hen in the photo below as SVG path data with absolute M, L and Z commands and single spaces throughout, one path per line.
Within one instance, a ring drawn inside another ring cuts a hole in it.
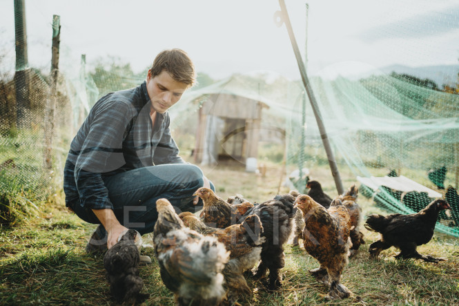
M 360 221 L 362 220 L 362 209 L 357 204 L 359 189 L 353 184 L 346 193 L 340 195 L 340 200 L 344 207 L 346 207 L 349 217 L 351 218 L 351 237 L 352 247 L 351 256 L 355 255 L 360 248 L 360 245 L 364 245 L 363 233 L 360 231 Z

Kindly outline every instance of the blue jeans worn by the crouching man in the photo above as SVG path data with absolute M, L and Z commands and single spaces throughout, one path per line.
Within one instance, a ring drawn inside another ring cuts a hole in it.
M 201 199 L 193 205 L 193 193 L 203 186 L 203 177 L 202 170 L 193 164 L 162 164 L 111 175 L 104 182 L 118 221 L 143 235 L 155 227 L 156 201 L 160 198 L 168 199 L 177 213 L 201 209 Z M 212 183 L 211 189 L 215 191 Z M 79 203 L 73 209 L 86 222 L 100 224 L 91 209 Z

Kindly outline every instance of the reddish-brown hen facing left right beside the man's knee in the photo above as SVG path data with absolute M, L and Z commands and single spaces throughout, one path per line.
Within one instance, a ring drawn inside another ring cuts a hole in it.
M 229 204 L 215 195 L 212 189 L 206 187 L 197 189 L 193 195 L 199 196 L 199 198 L 202 198 L 202 202 L 204 202 L 201 213 L 204 222 L 210 227 L 217 227 L 219 229 L 236 224 L 237 220 L 242 216 L 240 211 L 244 212 L 253 207 L 253 204 L 246 202 L 244 202 L 245 204 Z M 238 207 L 243 209 L 238 210 Z

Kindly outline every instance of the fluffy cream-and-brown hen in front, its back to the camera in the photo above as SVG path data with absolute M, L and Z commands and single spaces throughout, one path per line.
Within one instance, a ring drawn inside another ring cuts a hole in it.
M 229 252 L 217 238 L 185 227 L 168 200 L 157 200 L 156 208 L 155 256 L 176 305 L 220 305 L 225 295 L 222 271 Z

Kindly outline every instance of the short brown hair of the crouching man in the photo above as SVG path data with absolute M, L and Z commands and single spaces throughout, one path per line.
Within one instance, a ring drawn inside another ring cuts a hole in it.
M 151 66 L 151 77 L 159 75 L 162 70 L 166 70 L 175 81 L 187 84 L 188 87 L 196 83 L 195 65 L 182 49 L 159 52 Z

